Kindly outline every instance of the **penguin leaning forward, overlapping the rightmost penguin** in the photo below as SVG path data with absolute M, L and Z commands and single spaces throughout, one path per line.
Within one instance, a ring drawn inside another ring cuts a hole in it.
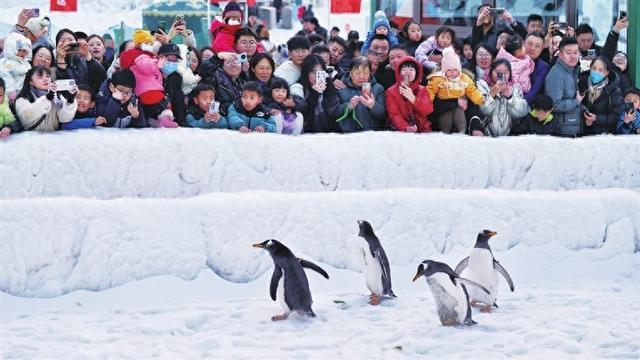
M 480 291 L 488 293 L 487 289 L 473 281 L 459 277 L 449 265 L 433 260 L 425 260 L 418 265 L 413 281 L 416 281 L 422 275 L 427 279 L 433 300 L 436 302 L 438 318 L 442 325 L 476 324 L 471 319 L 469 294 L 465 285 L 477 287 Z

